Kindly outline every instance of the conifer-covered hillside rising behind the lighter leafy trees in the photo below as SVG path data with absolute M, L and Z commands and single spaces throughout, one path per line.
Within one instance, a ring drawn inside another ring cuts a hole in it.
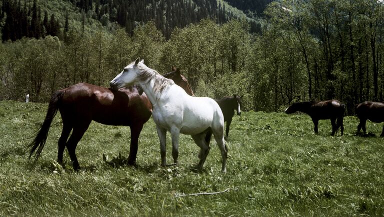
M 14 41 L 46 35 L 64 38 L 71 29 L 113 30 L 116 26 L 132 34 L 135 27 L 150 20 L 169 38 L 174 28 L 204 18 L 216 23 L 246 18 L 250 31 L 258 32 L 257 8 L 265 7 L 268 1 L 257 2 L 247 8 L 246 3 L 224 0 L 0 0 L 1 39 Z

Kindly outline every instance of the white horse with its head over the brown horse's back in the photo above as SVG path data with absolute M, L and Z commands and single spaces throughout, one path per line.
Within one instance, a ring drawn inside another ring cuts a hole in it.
M 144 65 L 144 60 L 140 61 L 139 58 L 127 65 L 109 84 L 112 89 L 138 84 L 144 90 L 153 105 L 152 115 L 160 140 L 161 166 L 166 166 L 166 131 L 169 131 L 172 137 L 174 164 L 177 164 L 179 134 L 192 136 L 193 141 L 200 147 L 200 161 L 197 165 L 200 170 L 209 153 L 209 141 L 213 133 L 221 152 L 221 172 L 226 172 L 224 117 L 213 99 L 189 96 L 172 80 Z

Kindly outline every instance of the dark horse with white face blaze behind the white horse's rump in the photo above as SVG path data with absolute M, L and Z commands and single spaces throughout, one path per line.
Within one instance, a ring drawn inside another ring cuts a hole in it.
M 215 99 L 220 106 L 222 114 L 224 115 L 224 122 L 226 121 L 225 137 L 228 137 L 229 125 L 232 122 L 234 110 L 237 111 L 237 115 L 241 114 L 241 97 L 234 94 L 233 96 L 227 96 L 222 99 Z

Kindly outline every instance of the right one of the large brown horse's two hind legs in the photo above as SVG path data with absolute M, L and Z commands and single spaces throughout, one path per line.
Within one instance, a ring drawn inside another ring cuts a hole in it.
M 72 162 L 73 170 L 80 169 L 75 150 L 76 150 L 78 141 L 80 141 L 85 131 L 88 129 L 90 122 L 91 120 L 77 124 L 77 126 L 74 126 L 72 135 L 70 135 L 69 140 L 66 143 L 66 149 L 68 150 L 68 154 Z

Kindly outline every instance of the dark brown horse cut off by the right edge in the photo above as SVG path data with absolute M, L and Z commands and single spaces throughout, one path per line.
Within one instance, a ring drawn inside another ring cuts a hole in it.
M 384 103 L 381 102 L 362 102 L 355 106 L 356 116 L 360 120 L 357 125 L 357 133 L 362 131 L 366 133 L 365 123 L 370 120 L 374 123 L 381 123 L 384 121 Z M 384 127 L 380 136 L 384 136 Z

